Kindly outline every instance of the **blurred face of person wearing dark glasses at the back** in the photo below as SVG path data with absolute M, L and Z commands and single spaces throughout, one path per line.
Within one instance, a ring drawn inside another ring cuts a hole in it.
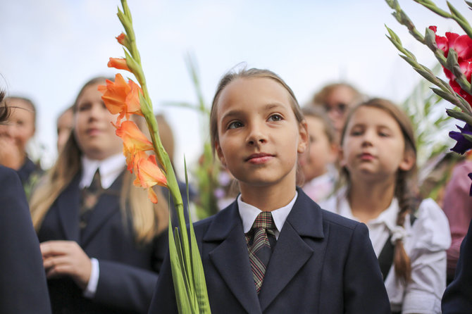
M 338 134 L 340 134 L 342 127 L 344 127 L 347 112 L 352 106 L 354 97 L 355 94 L 351 89 L 340 86 L 333 90 L 326 99 L 324 104 L 326 112 Z

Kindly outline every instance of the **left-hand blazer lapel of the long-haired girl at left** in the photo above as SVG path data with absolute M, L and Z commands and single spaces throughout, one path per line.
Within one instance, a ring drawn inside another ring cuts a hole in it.
M 63 227 L 66 240 L 79 241 L 80 230 L 77 218 L 79 217 L 80 206 L 80 175 L 76 175 L 68 187 L 59 194 L 56 201 L 58 207 L 59 220 Z

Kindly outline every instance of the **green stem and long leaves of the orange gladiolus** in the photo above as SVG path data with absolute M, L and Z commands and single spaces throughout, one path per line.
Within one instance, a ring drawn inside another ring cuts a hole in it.
M 151 97 L 147 89 L 146 79 L 141 65 L 141 57 L 137 49 L 135 32 L 132 27 L 130 8 L 126 0 L 121 0 L 121 4 L 123 5 L 123 11 L 120 11 L 120 8 L 118 8 L 118 18 L 125 28 L 125 44 L 123 45 L 123 50 L 125 51 L 126 64 L 141 86 L 142 93 L 139 92 L 141 111 L 146 120 L 149 134 L 151 134 L 154 153 L 166 173 L 167 187 L 170 191 L 170 196 L 173 198 L 173 204 L 178 215 L 179 228 L 175 228 L 173 232 L 170 213 L 168 227 L 170 263 L 178 310 L 179 313 L 210 313 L 204 270 L 193 226 L 192 223 L 190 223 L 190 241 L 192 241 L 190 244 L 189 234 L 185 224 L 182 195 L 180 194 L 172 163 L 159 137 L 159 129 L 156 117 L 154 116 Z M 185 166 L 185 172 L 187 181 L 187 166 Z M 189 221 L 192 222 L 190 212 Z M 192 249 L 190 249 L 190 246 L 192 246 Z

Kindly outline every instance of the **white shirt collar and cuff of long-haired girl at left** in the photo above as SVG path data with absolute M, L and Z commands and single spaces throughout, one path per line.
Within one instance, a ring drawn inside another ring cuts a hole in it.
M 101 187 L 108 189 L 115 182 L 116 178 L 123 172 L 125 168 L 126 158 L 122 153 L 105 158 L 103 161 L 96 161 L 86 156 L 82 156 L 82 177 L 80 178 L 79 187 L 83 189 L 89 187 L 94 178 L 97 169 L 100 170 Z M 92 299 L 97 292 L 99 283 L 100 268 L 97 258 L 90 258 L 92 262 L 92 270 L 90 272 L 89 282 L 84 290 L 84 296 Z

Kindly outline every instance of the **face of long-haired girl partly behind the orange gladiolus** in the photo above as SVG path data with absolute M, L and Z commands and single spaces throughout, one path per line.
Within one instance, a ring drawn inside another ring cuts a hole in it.
M 101 93 L 92 84 L 77 99 L 74 134 L 82 153 L 88 158 L 102 160 L 123 150 L 121 139 L 111 122 L 116 120 L 104 102 Z

